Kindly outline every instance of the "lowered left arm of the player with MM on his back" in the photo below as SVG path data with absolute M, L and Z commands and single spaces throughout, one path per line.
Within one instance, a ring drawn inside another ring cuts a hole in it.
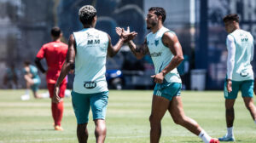
M 54 97 L 52 98 L 53 102 L 57 103 L 61 101 L 61 98 L 59 97 L 59 86 L 61 85 L 63 79 L 67 76 L 67 73 L 70 72 L 70 70 L 74 67 L 74 60 L 75 60 L 75 39 L 73 37 L 73 34 L 70 35 L 68 40 L 68 50 L 67 50 L 67 57 L 66 61 L 64 62 L 62 68 L 60 77 L 58 77 L 57 82 L 55 83 L 55 91 L 54 91 Z

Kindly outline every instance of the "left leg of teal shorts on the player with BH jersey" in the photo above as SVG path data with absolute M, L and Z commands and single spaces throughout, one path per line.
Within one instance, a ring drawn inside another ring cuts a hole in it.
M 88 123 L 90 112 L 90 94 L 79 94 L 72 91 L 73 111 L 78 124 Z

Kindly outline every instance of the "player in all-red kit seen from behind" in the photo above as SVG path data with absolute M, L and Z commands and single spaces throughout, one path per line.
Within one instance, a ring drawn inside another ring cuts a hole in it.
M 52 98 L 54 94 L 54 87 L 57 81 L 57 78 L 61 72 L 61 66 L 63 65 L 66 55 L 67 55 L 67 44 L 61 42 L 61 29 L 59 27 L 53 27 L 50 31 L 52 42 L 46 43 L 38 51 L 37 58 L 35 60 L 38 69 L 46 73 L 47 88 L 49 90 L 49 97 Z M 40 60 L 44 59 L 47 62 L 48 70 L 44 70 L 44 67 L 41 65 Z M 54 119 L 54 128 L 55 130 L 63 130 L 61 127 L 61 119 L 63 116 L 63 100 L 65 96 L 65 89 L 67 88 L 66 78 L 60 84 L 60 93 L 61 101 L 59 103 L 51 102 L 51 112 Z

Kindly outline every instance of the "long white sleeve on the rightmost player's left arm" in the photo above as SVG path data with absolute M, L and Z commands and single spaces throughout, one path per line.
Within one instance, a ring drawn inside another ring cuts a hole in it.
M 228 79 L 232 79 L 232 74 L 235 66 L 236 44 L 235 44 L 234 37 L 232 37 L 231 35 L 227 37 L 227 49 L 228 49 L 227 76 L 228 76 Z

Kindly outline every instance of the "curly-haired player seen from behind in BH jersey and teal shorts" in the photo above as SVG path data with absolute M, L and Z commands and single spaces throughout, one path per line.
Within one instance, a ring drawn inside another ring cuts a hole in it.
M 136 32 L 120 34 L 115 46 L 109 35 L 95 29 L 96 9 L 85 5 L 79 9 L 79 20 L 84 29 L 73 32 L 68 41 L 68 52 L 61 75 L 55 83 L 54 101 L 59 102 L 59 86 L 71 69 L 75 68 L 72 102 L 77 118 L 77 137 L 79 143 L 87 142 L 90 107 L 96 124 L 96 142 L 102 143 L 106 137 L 105 115 L 108 105 L 108 84 L 106 82 L 106 58 L 117 54 L 125 41 L 136 37 Z

